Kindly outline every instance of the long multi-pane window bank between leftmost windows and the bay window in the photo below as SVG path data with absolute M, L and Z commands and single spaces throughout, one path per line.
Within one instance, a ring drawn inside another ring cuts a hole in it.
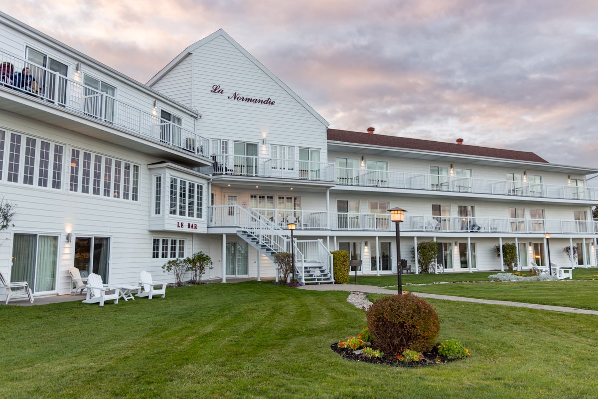
M 60 156 L 62 159 L 62 154 Z M 56 157 L 55 153 L 54 159 Z M 57 165 L 56 160 L 54 164 Z M 133 171 L 133 176 L 131 176 L 131 171 Z M 69 191 L 137 201 L 138 185 L 139 165 L 77 148 L 71 149 Z

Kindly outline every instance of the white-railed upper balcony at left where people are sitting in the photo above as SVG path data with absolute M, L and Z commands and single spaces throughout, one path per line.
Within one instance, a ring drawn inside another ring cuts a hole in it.
M 22 81 L 16 77 L 24 66 L 29 68 L 30 75 L 35 78 L 30 87 L 22 85 Z M 0 86 L 54 105 L 57 109 L 68 109 L 90 120 L 101 121 L 208 159 L 208 139 L 161 119 L 152 114 L 150 109 L 146 112 L 106 93 L 83 86 L 58 72 L 2 51 L 0 51 L 0 68 Z M 12 72 L 15 74 L 14 79 L 10 77 Z

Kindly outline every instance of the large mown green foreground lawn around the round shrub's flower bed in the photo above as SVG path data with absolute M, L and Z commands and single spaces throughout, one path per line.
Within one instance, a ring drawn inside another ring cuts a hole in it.
M 245 282 L 104 307 L 0 306 L 0 397 L 596 397 L 597 316 L 429 300 L 440 340 L 472 356 L 383 367 L 329 349 L 365 326 L 347 294 Z

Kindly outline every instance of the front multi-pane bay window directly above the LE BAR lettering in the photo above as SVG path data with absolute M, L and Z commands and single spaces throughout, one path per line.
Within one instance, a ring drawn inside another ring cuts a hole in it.
M 169 214 L 203 219 L 203 184 L 170 178 Z

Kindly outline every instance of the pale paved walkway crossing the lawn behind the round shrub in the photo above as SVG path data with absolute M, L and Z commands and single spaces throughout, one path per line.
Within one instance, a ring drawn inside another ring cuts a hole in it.
M 351 291 L 356 293 L 367 293 L 367 294 L 396 294 L 396 290 L 385 290 L 385 288 L 374 287 L 373 285 L 360 285 L 360 284 L 321 284 L 321 285 L 304 285 L 298 287 L 300 290 L 310 291 Z M 552 306 L 542 305 L 537 303 L 523 303 L 523 302 L 511 302 L 511 301 L 495 301 L 490 299 L 475 299 L 466 297 L 454 297 L 450 295 L 437 295 L 437 294 L 426 294 L 418 293 L 417 286 L 411 285 L 409 290 L 418 297 L 432 298 L 432 299 L 443 299 L 449 301 L 461 301 L 461 302 L 473 302 L 473 303 L 486 303 L 493 305 L 503 306 L 515 306 L 515 307 L 529 307 L 529 309 L 543 309 L 543 310 L 554 310 L 556 312 L 567 312 L 567 313 L 584 313 L 585 315 L 596 315 L 598 316 L 598 310 L 588 309 L 577 309 L 576 307 L 566 306 Z

